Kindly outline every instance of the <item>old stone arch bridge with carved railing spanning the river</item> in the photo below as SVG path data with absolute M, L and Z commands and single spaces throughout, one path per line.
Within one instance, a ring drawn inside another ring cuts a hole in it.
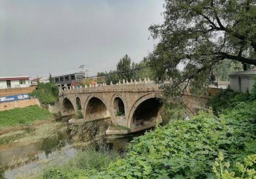
M 59 93 L 62 116 L 82 113 L 85 121 L 111 118 L 114 125 L 127 127 L 130 132 L 145 130 L 161 122 L 161 98 L 163 91 L 153 81 L 76 89 L 73 86 Z M 184 102 L 189 112 L 195 114 L 205 108 L 207 98 L 185 95 Z

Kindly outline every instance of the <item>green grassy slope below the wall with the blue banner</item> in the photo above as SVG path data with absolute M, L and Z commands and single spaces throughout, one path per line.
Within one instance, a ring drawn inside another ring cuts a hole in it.
M 46 109 L 41 109 L 38 105 L 15 108 L 0 112 L 0 128 L 28 125 L 36 120 L 49 120 L 50 118 L 52 118 L 52 114 Z

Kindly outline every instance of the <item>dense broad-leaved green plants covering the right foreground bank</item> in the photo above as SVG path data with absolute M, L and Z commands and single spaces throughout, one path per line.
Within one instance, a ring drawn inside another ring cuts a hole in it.
M 76 162 L 83 161 L 83 157 L 77 157 L 65 166 L 48 169 L 44 178 L 226 179 L 256 176 L 254 96 L 254 93 L 234 93 L 227 89 L 218 96 L 223 103 L 210 102 L 216 111 L 200 111 L 192 120 L 173 120 L 136 137 L 124 157 L 111 157 L 108 162 L 102 157 L 99 164 L 100 158 L 96 156 L 101 156 L 102 152 L 88 152 L 92 158 L 86 158 L 86 166 L 77 166 Z M 214 113 L 218 113 L 218 117 Z M 83 155 L 87 156 L 86 153 Z

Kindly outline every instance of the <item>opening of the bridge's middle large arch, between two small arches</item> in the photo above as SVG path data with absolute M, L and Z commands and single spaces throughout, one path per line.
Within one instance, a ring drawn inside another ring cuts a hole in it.
M 99 120 L 102 118 L 110 118 L 108 108 L 99 98 L 93 97 L 89 100 L 86 107 L 86 120 Z

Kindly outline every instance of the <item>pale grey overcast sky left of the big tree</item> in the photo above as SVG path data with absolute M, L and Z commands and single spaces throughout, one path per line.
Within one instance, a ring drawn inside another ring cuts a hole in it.
M 139 62 L 157 41 L 162 0 L 0 0 L 0 77 L 115 69 L 128 54 Z M 149 39 L 148 39 L 149 38 Z

